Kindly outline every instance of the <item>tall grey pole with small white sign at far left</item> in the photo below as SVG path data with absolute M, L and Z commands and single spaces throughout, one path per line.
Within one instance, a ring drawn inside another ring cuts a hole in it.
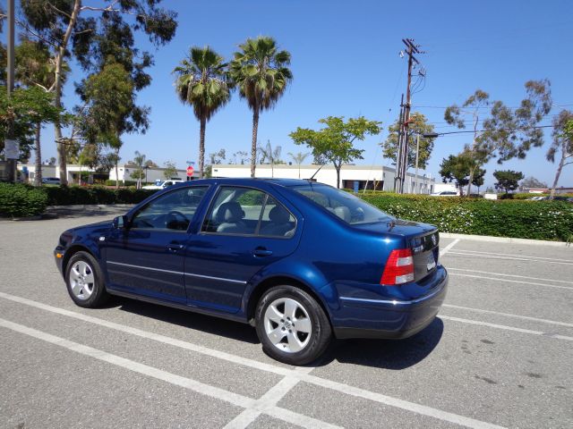
M 6 87 L 8 100 L 12 97 L 14 88 L 14 0 L 8 0 L 8 52 L 7 52 L 7 71 Z M 4 158 L 8 167 L 8 180 L 17 181 L 18 173 L 16 172 L 16 163 L 18 162 L 20 147 L 14 140 L 14 117 L 13 113 L 8 118 L 6 127 L 6 139 L 4 141 Z

